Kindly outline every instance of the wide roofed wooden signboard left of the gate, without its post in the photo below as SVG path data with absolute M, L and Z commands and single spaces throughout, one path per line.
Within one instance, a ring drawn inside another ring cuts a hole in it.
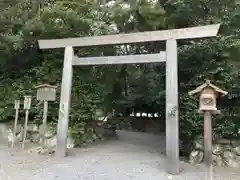
M 37 100 L 38 101 L 55 101 L 56 99 L 56 86 L 43 84 L 36 86 L 37 88 Z

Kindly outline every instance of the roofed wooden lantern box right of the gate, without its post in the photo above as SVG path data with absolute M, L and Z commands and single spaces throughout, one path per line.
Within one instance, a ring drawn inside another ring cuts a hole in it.
M 199 110 L 201 111 L 217 111 L 217 101 L 219 96 L 227 95 L 226 91 L 218 88 L 207 80 L 203 85 L 197 87 L 195 90 L 190 91 L 189 95 L 198 95 Z

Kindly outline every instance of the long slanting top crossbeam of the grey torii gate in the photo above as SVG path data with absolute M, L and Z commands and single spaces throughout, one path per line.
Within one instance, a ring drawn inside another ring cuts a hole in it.
M 150 41 L 164 41 L 168 39 L 194 39 L 203 37 L 216 36 L 220 24 L 171 29 L 162 31 L 138 32 L 129 34 L 105 35 L 94 37 L 66 38 L 66 39 L 51 39 L 39 40 L 40 49 L 53 49 L 84 46 L 99 46 L 110 44 L 130 44 Z

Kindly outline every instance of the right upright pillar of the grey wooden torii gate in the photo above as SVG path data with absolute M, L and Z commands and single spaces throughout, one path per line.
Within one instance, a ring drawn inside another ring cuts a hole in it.
M 175 39 L 166 42 L 166 153 L 166 171 L 179 174 L 178 60 Z

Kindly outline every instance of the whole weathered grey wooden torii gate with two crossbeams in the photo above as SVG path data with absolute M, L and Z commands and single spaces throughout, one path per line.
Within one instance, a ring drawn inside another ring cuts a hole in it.
M 39 40 L 40 49 L 65 48 L 57 130 L 56 156 L 66 155 L 73 66 L 166 61 L 166 171 L 179 174 L 179 113 L 177 40 L 216 36 L 220 24 L 130 34 Z M 166 41 L 166 52 L 147 55 L 77 57 L 73 47 Z

